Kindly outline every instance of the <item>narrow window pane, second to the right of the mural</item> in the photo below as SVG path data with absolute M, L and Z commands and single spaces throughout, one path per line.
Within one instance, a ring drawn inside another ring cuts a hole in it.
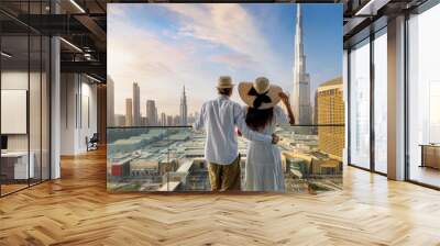
M 387 42 L 386 29 L 374 40 L 374 168 L 387 172 Z

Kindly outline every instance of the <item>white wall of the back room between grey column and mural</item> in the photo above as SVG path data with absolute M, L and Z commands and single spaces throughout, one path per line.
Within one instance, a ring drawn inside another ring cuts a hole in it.
M 62 74 L 61 80 L 61 154 L 77 155 L 97 132 L 97 86 L 79 74 Z

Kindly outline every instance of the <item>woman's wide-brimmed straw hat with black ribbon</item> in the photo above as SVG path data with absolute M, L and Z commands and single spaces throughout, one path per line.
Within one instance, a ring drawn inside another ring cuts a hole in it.
M 239 93 L 241 100 L 249 107 L 265 110 L 278 104 L 280 98 L 279 92 L 283 89 L 278 86 L 270 83 L 268 79 L 258 77 L 255 82 L 241 82 L 239 85 Z

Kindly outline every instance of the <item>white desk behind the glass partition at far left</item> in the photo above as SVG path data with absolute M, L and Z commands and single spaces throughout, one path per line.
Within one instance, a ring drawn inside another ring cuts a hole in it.
M 33 152 L 29 154 L 31 157 L 28 168 L 28 152 L 6 152 L 1 153 L 1 172 L 7 179 L 29 179 L 34 178 L 35 168 Z M 28 175 L 30 175 L 28 177 Z

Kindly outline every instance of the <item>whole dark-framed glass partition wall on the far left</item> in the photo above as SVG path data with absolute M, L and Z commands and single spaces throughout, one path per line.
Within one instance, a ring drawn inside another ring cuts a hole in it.
M 48 0 L 1 1 L 0 7 L 23 18 L 47 14 L 48 4 Z M 0 183 L 3 195 L 50 176 L 50 38 L 16 21 L 9 21 L 6 15 L 0 14 L 0 19 L 8 22 L 8 25 L 0 25 L 3 143 Z M 30 19 L 34 26 L 42 24 L 38 20 Z

